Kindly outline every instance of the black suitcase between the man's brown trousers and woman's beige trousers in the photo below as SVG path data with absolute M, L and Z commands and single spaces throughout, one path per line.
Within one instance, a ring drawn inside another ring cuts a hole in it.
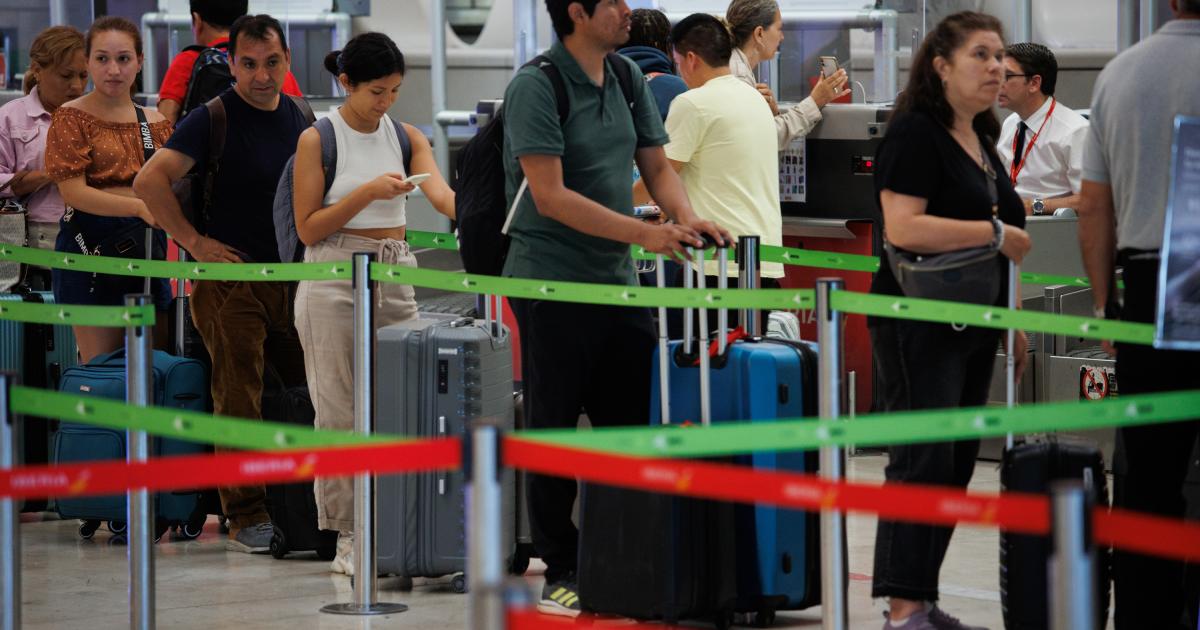
M 308 388 L 287 388 L 269 366 L 264 370 L 263 419 L 312 427 L 316 420 Z M 266 486 L 266 512 L 275 533 L 271 556 L 283 558 L 299 551 L 316 551 L 323 560 L 337 554 L 337 532 L 317 528 L 317 498 L 312 481 Z

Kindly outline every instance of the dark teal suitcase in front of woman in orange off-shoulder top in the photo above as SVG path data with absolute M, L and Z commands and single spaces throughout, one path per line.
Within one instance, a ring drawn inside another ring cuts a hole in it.
M 67 394 L 125 400 L 125 350 L 120 349 L 97 356 L 88 365 L 62 372 L 60 391 Z M 209 409 L 209 380 L 204 365 L 194 359 L 173 356 L 161 350 L 154 352 L 154 404 L 192 412 Z M 151 437 L 151 454 L 155 457 L 202 455 L 204 444 L 178 439 Z M 126 456 L 125 431 L 64 421 L 54 436 L 53 463 L 72 463 L 95 460 L 121 460 Z M 98 521 L 109 521 L 124 527 L 126 518 L 125 496 L 110 497 L 60 497 L 58 512 L 64 518 L 80 518 L 90 522 L 80 528 L 84 538 L 90 538 Z M 187 538 L 198 535 L 206 514 L 199 505 L 196 491 L 161 492 L 155 497 L 155 510 L 160 534 L 172 524 L 185 524 Z M 121 533 L 118 529 L 114 533 Z

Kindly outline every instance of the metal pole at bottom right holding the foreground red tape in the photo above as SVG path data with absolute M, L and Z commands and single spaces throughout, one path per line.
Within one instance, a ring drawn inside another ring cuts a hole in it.
M 1096 558 L 1092 547 L 1092 509 L 1082 482 L 1057 481 L 1050 486 L 1050 628 L 1096 628 Z

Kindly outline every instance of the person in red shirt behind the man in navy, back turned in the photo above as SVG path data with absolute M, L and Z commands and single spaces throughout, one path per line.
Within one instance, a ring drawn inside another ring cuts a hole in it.
M 191 0 L 192 37 L 197 43 L 203 42 L 208 47 L 228 43 L 229 26 L 233 20 L 246 14 L 247 4 L 247 0 Z M 187 96 L 187 82 L 192 77 L 192 66 L 199 56 L 198 50 L 179 53 L 172 59 L 170 67 L 162 78 L 162 85 L 158 88 L 158 112 L 173 124 L 179 121 L 179 112 Z M 304 96 L 292 72 L 288 72 L 283 80 L 283 94 Z

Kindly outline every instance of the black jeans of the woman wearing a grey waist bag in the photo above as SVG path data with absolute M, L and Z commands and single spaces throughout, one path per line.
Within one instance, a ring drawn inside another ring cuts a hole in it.
M 988 402 L 1001 331 L 948 324 L 881 320 L 871 348 L 886 412 L 977 407 Z M 887 482 L 965 488 L 979 440 L 907 444 L 888 449 Z M 937 601 L 937 576 L 953 527 L 880 521 L 875 535 L 874 598 Z

